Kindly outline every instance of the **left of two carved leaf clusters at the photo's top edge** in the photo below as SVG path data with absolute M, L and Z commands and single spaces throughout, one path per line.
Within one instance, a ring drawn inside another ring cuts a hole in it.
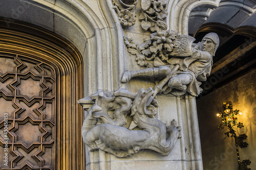
M 114 9 L 123 27 L 133 26 L 136 21 L 134 9 L 138 0 L 113 0 Z

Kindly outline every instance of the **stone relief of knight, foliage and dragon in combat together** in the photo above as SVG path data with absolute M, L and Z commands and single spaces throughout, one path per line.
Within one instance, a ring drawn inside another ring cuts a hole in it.
M 127 157 L 141 149 L 150 149 L 167 156 L 180 138 L 180 127 L 173 120 L 168 125 L 158 120 L 158 93 L 197 96 L 200 81 L 205 81 L 212 66 L 212 56 L 219 45 L 215 33 L 207 34 L 202 42 L 180 35 L 176 31 L 158 31 L 138 45 L 124 37 L 138 64 L 147 68 L 125 71 L 121 82 L 133 77 L 155 78 L 159 83 L 141 88 L 136 95 L 120 88 L 116 92 L 98 91 L 78 101 L 88 108 L 82 127 L 83 141 L 90 151 L 102 150 L 117 157 Z M 90 107 L 88 107 L 88 104 Z M 161 113 L 160 113 L 161 114 Z

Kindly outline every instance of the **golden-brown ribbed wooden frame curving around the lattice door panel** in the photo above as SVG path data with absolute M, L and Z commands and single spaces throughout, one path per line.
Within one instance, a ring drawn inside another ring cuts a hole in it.
M 83 62 L 76 47 L 62 37 L 30 24 L 0 18 L 0 52 L 22 54 L 56 70 L 56 146 L 54 169 L 85 169 L 81 127 Z

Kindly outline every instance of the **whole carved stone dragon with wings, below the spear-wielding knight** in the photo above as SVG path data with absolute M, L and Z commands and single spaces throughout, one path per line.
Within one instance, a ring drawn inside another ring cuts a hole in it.
M 91 96 L 94 104 L 82 127 L 89 150 L 101 149 L 127 157 L 150 149 L 167 156 L 180 138 L 180 127 L 176 127 L 175 120 L 167 125 L 155 117 L 158 102 L 153 96 L 152 88 L 142 88 L 136 96 L 125 89 L 114 93 L 99 91 Z M 84 100 L 78 103 L 83 105 Z

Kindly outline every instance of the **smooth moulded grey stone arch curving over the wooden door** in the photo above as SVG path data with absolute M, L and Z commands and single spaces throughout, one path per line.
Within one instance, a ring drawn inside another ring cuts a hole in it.
M 123 33 L 117 16 L 113 15 L 111 0 L 3 0 L 1 3 L 0 17 L 6 22 L 10 18 L 31 23 L 76 46 L 87 72 L 84 75 L 86 95 L 119 88 L 125 48 L 120 43 Z M 101 15 L 94 9 L 101 10 Z

